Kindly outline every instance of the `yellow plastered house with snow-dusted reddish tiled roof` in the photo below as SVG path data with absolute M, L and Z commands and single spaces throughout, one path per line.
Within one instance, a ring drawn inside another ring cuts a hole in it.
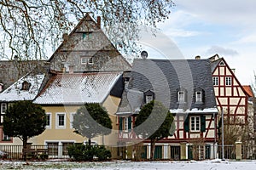
M 32 144 L 65 145 L 85 143 L 86 138 L 74 133 L 73 115 L 84 103 L 99 103 L 113 122 L 113 132 L 91 141 L 95 144 L 116 144 L 116 116 L 122 93 L 122 73 L 60 73 L 51 77 L 33 103 L 42 105 L 47 114 L 44 133 L 31 139 Z

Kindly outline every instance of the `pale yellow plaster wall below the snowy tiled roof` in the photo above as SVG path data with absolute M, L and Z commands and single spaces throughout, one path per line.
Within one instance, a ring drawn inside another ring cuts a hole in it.
M 103 103 L 103 106 L 107 109 L 109 117 L 111 119 L 113 132 L 108 136 L 99 136 L 92 141 L 97 142 L 98 144 L 116 144 L 118 139 L 118 126 L 116 123 L 116 116 L 114 115 L 118 109 L 120 99 L 108 96 L 108 98 Z M 33 144 L 45 144 L 45 141 L 73 141 L 77 143 L 83 143 L 87 141 L 86 138 L 82 137 L 77 133 L 73 133 L 73 128 L 70 123 L 71 113 L 75 113 L 81 105 L 77 106 L 43 106 L 46 113 L 51 113 L 51 128 L 46 128 L 44 133 L 34 137 L 30 141 Z M 66 113 L 66 128 L 56 128 L 56 113 Z

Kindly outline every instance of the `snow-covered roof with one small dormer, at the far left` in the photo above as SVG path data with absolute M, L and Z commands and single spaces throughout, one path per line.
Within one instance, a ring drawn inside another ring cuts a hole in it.
M 33 100 L 44 81 L 44 74 L 31 75 L 28 74 L 21 77 L 17 82 L 12 84 L 0 94 L 0 101 L 19 101 L 19 100 Z M 22 84 L 27 82 L 30 84 L 29 89 L 22 89 Z

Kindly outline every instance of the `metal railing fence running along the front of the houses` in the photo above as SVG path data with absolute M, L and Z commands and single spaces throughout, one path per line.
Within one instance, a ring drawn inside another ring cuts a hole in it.
M 67 153 L 68 144 L 29 145 L 26 150 L 22 145 L 0 145 L 0 158 L 21 160 L 27 159 L 69 159 Z M 106 146 L 111 151 L 113 159 L 147 160 L 150 157 L 150 145 L 131 145 L 124 147 Z M 179 145 L 156 145 L 154 159 L 156 160 L 181 160 L 181 147 Z M 256 145 L 242 145 L 242 159 L 255 159 Z M 222 146 L 211 145 L 187 145 L 187 159 L 215 159 L 222 158 Z M 224 159 L 236 159 L 236 146 L 224 145 Z

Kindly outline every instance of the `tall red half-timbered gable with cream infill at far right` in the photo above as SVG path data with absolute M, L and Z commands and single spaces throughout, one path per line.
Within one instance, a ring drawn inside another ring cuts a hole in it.
M 230 124 L 247 124 L 249 95 L 238 81 L 234 70 L 218 54 L 212 59 L 212 82 L 219 111 Z

